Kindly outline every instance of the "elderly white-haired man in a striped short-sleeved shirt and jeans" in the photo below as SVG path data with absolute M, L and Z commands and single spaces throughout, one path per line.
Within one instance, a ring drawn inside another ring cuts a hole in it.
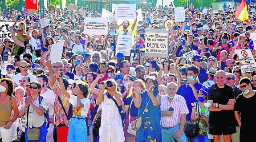
M 173 139 L 178 142 L 187 142 L 183 128 L 189 110 L 185 98 L 176 94 L 177 90 L 177 84 L 170 82 L 167 84 L 167 95 L 161 98 L 163 142 L 174 142 Z

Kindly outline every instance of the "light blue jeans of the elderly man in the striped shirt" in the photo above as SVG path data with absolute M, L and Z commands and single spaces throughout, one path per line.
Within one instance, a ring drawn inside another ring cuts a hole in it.
M 174 139 L 178 142 L 187 142 L 187 137 L 183 131 L 179 138 L 176 137 L 175 130 L 179 129 L 179 124 L 174 127 L 164 129 L 162 128 L 162 140 L 163 142 L 175 142 Z

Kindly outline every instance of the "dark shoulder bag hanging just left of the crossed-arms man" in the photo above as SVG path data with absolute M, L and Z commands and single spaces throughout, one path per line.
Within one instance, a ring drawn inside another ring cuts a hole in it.
M 199 112 L 199 103 L 195 102 L 195 111 Z M 199 133 L 199 119 L 197 121 L 190 121 L 190 123 L 186 126 L 186 129 L 184 130 L 185 135 L 188 138 L 195 138 Z

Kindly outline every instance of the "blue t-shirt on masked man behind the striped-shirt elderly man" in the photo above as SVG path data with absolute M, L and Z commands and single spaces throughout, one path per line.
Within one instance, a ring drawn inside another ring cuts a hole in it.
M 203 85 L 200 82 L 196 82 L 194 84 L 194 87 L 195 87 L 196 91 L 199 91 L 199 89 L 203 88 Z M 187 114 L 187 121 L 190 121 L 191 120 L 191 111 L 192 111 L 191 103 L 197 101 L 195 99 L 193 90 L 189 85 L 181 85 L 177 91 L 177 94 L 181 95 L 186 100 L 187 108 L 189 110 L 189 114 Z

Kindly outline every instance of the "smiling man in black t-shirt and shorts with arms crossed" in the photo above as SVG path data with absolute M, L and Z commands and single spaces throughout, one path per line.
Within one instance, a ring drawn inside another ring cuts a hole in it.
M 209 134 L 214 142 L 220 142 L 223 135 L 225 142 L 231 142 L 231 134 L 236 133 L 234 116 L 234 91 L 225 83 L 226 74 L 223 70 L 216 72 L 216 83 L 208 89 L 207 103 L 209 105 Z M 221 120 L 221 121 L 220 121 Z

